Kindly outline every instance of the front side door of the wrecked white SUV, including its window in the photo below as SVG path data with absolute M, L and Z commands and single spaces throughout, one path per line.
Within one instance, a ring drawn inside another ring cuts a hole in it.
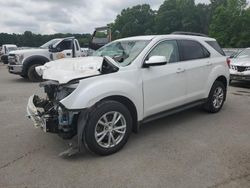
M 167 64 L 142 68 L 144 91 L 144 118 L 185 103 L 185 63 L 180 62 L 175 40 L 159 42 L 149 53 L 165 56 Z

